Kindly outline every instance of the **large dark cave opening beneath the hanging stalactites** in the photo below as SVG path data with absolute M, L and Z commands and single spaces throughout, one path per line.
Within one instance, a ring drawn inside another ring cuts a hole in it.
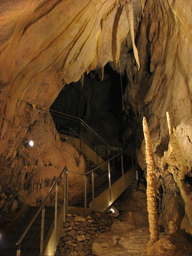
M 107 63 L 103 81 L 101 77 L 101 69 L 95 69 L 84 74 L 83 85 L 80 80 L 65 84 L 50 109 L 81 118 L 109 145 L 123 147 L 125 141 L 130 142 L 124 136 L 128 129 L 129 139 L 133 140 L 130 127 L 134 113 L 131 108 L 129 116 L 123 111 L 127 76 L 120 75 Z

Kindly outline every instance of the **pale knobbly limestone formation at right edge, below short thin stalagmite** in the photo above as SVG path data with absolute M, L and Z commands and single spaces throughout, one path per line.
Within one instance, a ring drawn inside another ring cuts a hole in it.
M 191 175 L 191 153 L 192 148 L 191 140 L 185 141 L 185 136 L 188 135 L 188 138 L 191 138 L 191 118 L 185 118 L 181 126 L 177 128 L 171 127 L 170 121 L 168 119 L 169 130 L 170 132 L 170 143 L 166 156 L 166 161 L 168 163 L 168 170 L 172 172 L 175 181 L 177 182 L 181 196 L 185 202 L 185 211 L 192 225 L 192 203 L 191 203 L 191 186 L 187 184 L 186 178 Z M 182 128 L 182 135 L 180 129 Z M 190 127 L 190 128 L 189 128 Z M 188 132 L 188 129 L 190 132 Z M 189 178 L 190 179 L 190 178 Z

